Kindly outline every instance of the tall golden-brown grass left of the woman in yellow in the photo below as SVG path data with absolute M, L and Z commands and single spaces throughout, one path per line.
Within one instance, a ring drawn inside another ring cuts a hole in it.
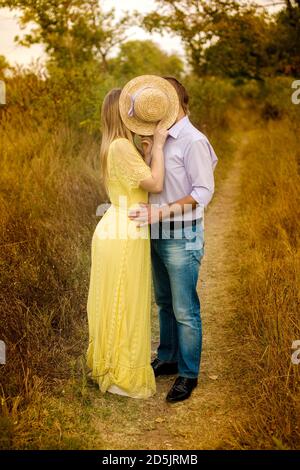
M 70 359 L 82 353 L 91 233 L 102 201 L 97 139 L 57 120 L 46 84 L 36 87 L 9 82 L 0 123 L 0 339 L 7 350 L 0 447 L 9 447 L 5 429 L 11 435 L 19 411 L 68 377 Z

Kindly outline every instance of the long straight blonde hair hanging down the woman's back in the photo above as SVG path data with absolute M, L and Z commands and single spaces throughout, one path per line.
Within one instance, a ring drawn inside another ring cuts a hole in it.
M 118 137 L 125 137 L 133 142 L 131 131 L 123 124 L 119 111 L 121 88 L 113 88 L 104 98 L 101 108 L 101 147 L 100 175 L 107 191 L 107 156 L 111 142 Z

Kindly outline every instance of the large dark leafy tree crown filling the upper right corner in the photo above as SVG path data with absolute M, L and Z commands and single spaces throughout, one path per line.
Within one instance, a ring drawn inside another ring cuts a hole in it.
M 257 5 L 237 1 L 157 0 L 147 14 L 148 31 L 168 31 L 182 39 L 197 76 L 262 79 L 299 73 L 300 4 L 272 17 Z

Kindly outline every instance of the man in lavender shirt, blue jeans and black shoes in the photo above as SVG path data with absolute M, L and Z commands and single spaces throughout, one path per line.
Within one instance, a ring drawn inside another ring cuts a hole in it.
M 168 402 L 189 398 L 199 375 L 202 325 L 197 280 L 204 254 L 203 208 L 214 193 L 216 154 L 208 139 L 188 118 L 189 97 L 173 77 L 164 77 L 179 97 L 175 124 L 164 147 L 163 191 L 150 196 L 131 218 L 151 224 L 155 299 L 160 344 L 152 362 L 155 376 L 178 373 Z

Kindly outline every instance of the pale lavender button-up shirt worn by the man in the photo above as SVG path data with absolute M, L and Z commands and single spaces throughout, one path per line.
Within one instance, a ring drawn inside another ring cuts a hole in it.
M 169 129 L 164 156 L 164 188 L 161 193 L 150 195 L 150 203 L 162 206 L 191 195 L 199 204 L 197 208 L 172 220 L 201 218 L 214 194 L 214 169 L 218 162 L 207 137 L 185 116 Z

